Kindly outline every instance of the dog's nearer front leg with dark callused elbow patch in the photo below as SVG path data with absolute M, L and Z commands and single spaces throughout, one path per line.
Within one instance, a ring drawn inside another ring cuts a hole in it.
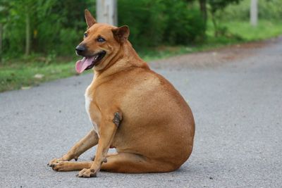
M 100 137 L 97 147 L 95 159 L 90 169 L 82 169 L 78 173 L 78 177 L 96 177 L 102 163 L 106 163 L 106 154 L 108 153 L 109 146 L 114 139 L 118 125 L 121 123 L 121 113 L 111 113 L 103 117 L 100 125 Z

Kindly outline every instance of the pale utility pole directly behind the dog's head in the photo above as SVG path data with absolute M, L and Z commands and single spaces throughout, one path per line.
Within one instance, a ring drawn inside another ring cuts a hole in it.
M 98 23 L 118 25 L 117 0 L 97 0 L 96 13 Z

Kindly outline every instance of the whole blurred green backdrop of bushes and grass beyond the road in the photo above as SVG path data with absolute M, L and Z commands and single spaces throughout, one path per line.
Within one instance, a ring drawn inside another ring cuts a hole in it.
M 75 75 L 85 8 L 96 17 L 94 0 L 1 0 L 0 92 Z M 145 61 L 282 34 L 281 0 L 116 0 L 116 10 Z

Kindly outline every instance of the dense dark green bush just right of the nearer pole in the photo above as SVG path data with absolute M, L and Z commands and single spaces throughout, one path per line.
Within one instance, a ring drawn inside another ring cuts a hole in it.
M 130 27 L 137 49 L 160 44 L 190 44 L 204 35 L 199 8 L 187 1 L 118 0 L 119 25 Z

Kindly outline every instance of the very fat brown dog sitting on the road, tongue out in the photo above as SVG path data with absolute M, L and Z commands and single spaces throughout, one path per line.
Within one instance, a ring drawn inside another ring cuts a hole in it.
M 76 63 L 76 70 L 94 69 L 85 92 L 94 128 L 49 165 L 57 171 L 81 170 L 78 177 L 95 177 L 99 170 L 162 173 L 178 169 L 193 146 L 195 123 L 188 104 L 136 54 L 128 42 L 127 26 L 96 23 L 87 10 L 85 19 L 88 28 L 76 47 L 84 58 Z M 94 161 L 70 162 L 97 144 Z M 117 153 L 108 155 L 110 147 Z

